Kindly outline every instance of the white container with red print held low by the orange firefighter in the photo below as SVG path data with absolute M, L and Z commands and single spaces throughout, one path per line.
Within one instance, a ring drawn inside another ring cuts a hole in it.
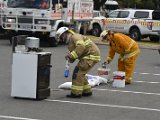
M 109 68 L 98 68 L 97 72 L 99 76 L 110 79 L 111 70 Z

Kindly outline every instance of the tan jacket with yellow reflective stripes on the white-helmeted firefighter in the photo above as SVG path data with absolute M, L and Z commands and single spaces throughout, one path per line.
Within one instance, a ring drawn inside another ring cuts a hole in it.
M 89 38 L 81 34 L 73 34 L 68 43 L 70 58 L 100 61 L 100 50 Z

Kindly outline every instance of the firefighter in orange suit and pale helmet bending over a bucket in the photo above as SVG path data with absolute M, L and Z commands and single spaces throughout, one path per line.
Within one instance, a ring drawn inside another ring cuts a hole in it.
M 120 54 L 118 71 L 125 72 L 125 83 L 126 85 L 131 84 L 136 59 L 140 53 L 138 44 L 127 35 L 112 31 L 104 30 L 100 37 L 102 38 L 102 42 L 109 42 L 110 44 L 106 62 L 109 64 L 114 58 L 115 53 Z

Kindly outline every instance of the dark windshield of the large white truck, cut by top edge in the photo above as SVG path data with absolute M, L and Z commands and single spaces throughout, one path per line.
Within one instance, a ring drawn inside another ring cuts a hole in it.
M 48 9 L 50 0 L 8 0 L 8 7 Z

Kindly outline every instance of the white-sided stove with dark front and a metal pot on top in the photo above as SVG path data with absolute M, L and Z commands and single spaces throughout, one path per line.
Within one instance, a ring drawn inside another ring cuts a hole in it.
M 12 97 L 42 100 L 50 96 L 51 53 L 42 51 L 37 39 L 13 38 Z

